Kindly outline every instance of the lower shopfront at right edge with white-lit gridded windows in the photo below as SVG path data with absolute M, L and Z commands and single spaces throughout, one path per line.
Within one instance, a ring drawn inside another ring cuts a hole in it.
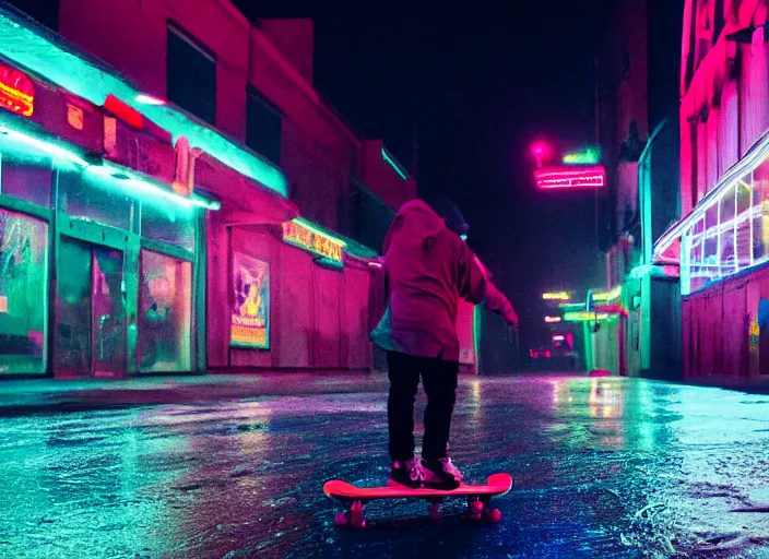
M 765 133 L 654 246 L 656 263 L 681 263 L 685 377 L 769 373 L 767 209 Z

